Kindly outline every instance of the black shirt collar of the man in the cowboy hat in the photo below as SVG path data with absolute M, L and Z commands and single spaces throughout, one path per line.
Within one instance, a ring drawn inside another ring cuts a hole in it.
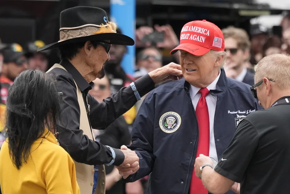
M 66 71 L 72 75 L 72 78 L 75 80 L 76 84 L 79 86 L 79 89 L 82 92 L 86 89 L 92 89 L 94 83 L 88 83 L 85 78 L 79 73 L 79 71 L 72 65 L 72 63 L 64 59 L 60 62 L 60 65 L 63 66 Z

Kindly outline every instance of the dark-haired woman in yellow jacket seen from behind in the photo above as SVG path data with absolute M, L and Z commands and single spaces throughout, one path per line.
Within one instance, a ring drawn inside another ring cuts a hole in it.
M 75 164 L 57 140 L 60 94 L 55 79 L 37 70 L 22 72 L 10 87 L 0 150 L 3 194 L 80 193 Z

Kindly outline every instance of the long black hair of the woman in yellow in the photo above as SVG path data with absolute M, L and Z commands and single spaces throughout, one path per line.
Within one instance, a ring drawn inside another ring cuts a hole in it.
M 56 129 L 61 97 L 52 74 L 40 70 L 20 73 L 8 90 L 6 136 L 12 162 L 19 169 L 27 162 L 33 142 L 44 135 L 44 128 Z M 50 124 L 47 124 L 50 122 Z

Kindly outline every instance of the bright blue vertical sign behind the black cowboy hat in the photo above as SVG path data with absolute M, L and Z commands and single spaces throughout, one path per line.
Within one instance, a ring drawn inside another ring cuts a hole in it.
M 123 34 L 135 39 L 136 0 L 110 0 L 111 21 L 116 22 Z M 127 46 L 121 66 L 128 74 L 133 75 L 135 66 L 135 46 Z

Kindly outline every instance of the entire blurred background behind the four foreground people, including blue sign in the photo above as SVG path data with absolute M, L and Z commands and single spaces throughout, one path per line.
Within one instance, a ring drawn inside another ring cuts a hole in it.
M 193 20 L 205 19 L 222 29 L 227 53 L 226 75 L 253 85 L 253 66 L 261 58 L 274 53 L 290 54 L 289 4 L 287 0 L 1 1 L 0 113 L 5 110 L 8 88 L 21 71 L 47 71 L 60 61 L 57 49 L 41 53 L 37 53 L 37 49 L 59 40 L 60 11 L 66 8 L 81 5 L 100 7 L 111 15 L 109 20 L 115 19 L 117 24 L 122 24 L 131 22 L 132 18 L 126 15 L 125 9 L 119 10 L 123 12 L 122 17 L 115 16 L 111 11 L 116 7 L 112 9 L 112 6 L 133 7 L 134 47 L 112 45 L 111 60 L 105 65 L 106 76 L 96 79 L 90 91 L 93 97 L 102 101 L 152 70 L 170 62 L 179 63 L 179 56 L 170 56 L 169 52 L 179 44 L 182 26 Z M 117 33 L 130 36 L 127 28 L 118 25 Z M 124 60 L 126 57 L 130 60 Z M 130 131 L 141 103 L 142 100 L 138 101 L 105 131 L 95 130 L 96 140 L 115 148 L 130 144 Z M 3 135 L 0 141 L 4 141 Z M 146 190 L 148 177 L 124 184 L 118 170 L 113 166 L 106 168 L 106 193 L 141 194 Z

